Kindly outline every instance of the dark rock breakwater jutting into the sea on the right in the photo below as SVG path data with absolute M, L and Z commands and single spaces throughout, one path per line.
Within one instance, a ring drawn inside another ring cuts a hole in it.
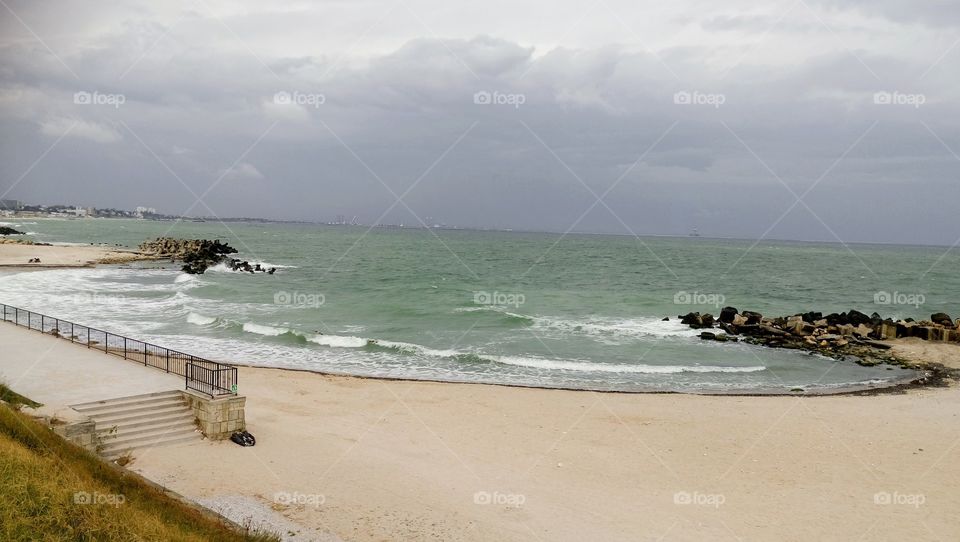
M 681 323 L 694 329 L 709 329 L 714 324 L 711 315 L 698 312 L 680 316 L 680 319 Z M 916 337 L 960 343 L 960 320 L 954 321 L 942 312 L 931 315 L 930 320 L 917 322 L 910 318 L 884 319 L 877 313 L 867 316 L 856 310 L 826 316 L 807 312 L 768 318 L 758 312 L 741 313 L 734 307 L 724 307 L 720 311 L 718 327 L 723 333 L 703 331 L 700 338 L 804 349 L 834 358 L 852 355 L 861 365 L 899 363 L 899 360 L 882 353 L 890 348 L 889 344 L 882 342 L 884 340 Z

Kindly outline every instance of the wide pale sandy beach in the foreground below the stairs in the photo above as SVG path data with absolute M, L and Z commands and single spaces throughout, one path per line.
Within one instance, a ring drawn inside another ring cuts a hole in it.
M 254 496 L 303 526 L 304 539 L 960 534 L 956 388 L 599 394 L 253 368 L 241 382 L 256 447 L 158 449 L 133 468 L 206 502 Z

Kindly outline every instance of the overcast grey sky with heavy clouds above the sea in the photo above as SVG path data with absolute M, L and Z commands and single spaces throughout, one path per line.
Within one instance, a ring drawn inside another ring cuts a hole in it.
M 952 0 L 0 4 L 0 199 L 960 241 Z

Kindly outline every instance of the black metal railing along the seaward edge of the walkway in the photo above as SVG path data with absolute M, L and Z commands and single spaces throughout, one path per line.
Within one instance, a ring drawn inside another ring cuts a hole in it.
M 143 363 L 168 373 L 184 377 L 186 389 L 195 390 L 211 397 L 236 395 L 237 368 L 216 361 L 184 354 L 123 335 L 109 333 L 45 314 L 28 311 L 0 303 L 3 321 L 12 322 L 48 335 L 53 335 L 87 348 L 103 350 L 107 354 Z

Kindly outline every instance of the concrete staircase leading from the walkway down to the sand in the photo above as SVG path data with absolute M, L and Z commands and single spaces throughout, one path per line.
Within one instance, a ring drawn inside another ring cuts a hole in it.
M 203 438 L 194 423 L 193 411 L 176 390 L 105 399 L 72 408 L 96 422 L 100 454 L 107 459 Z M 132 455 L 136 457 L 136 453 Z

